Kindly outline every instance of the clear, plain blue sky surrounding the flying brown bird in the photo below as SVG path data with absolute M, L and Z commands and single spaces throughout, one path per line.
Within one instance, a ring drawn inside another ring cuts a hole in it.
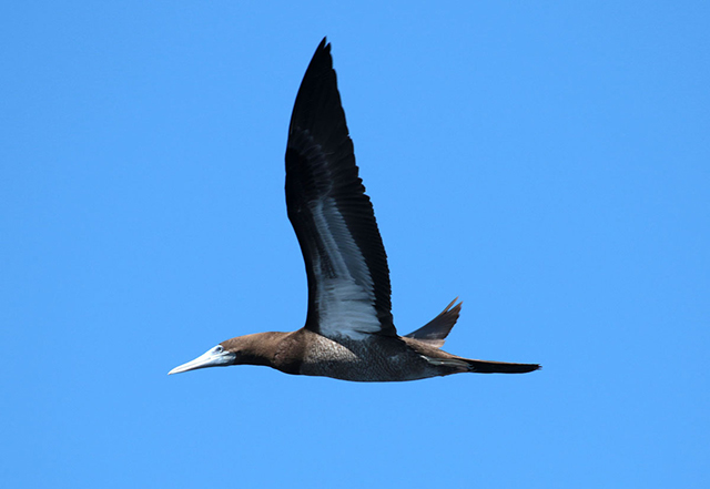
M 4 2 L 0 485 L 710 486 L 707 2 Z M 328 35 L 408 333 L 523 376 L 166 373 L 303 325 Z

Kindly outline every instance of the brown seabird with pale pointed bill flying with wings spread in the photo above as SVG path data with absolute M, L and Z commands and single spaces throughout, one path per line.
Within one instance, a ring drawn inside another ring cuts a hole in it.
M 261 365 L 285 374 L 341 380 L 405 381 L 540 368 L 538 364 L 464 358 L 440 349 L 458 319 L 458 298 L 423 327 L 405 336 L 397 334 L 387 255 L 355 164 L 326 38 L 298 89 L 285 160 L 287 215 L 308 285 L 305 325 L 295 332 L 227 339 L 169 375 Z

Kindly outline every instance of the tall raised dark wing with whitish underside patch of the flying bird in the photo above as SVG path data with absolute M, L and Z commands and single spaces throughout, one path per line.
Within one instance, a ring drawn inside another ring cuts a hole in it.
M 396 336 L 387 255 L 358 177 L 325 39 L 291 116 L 286 206 L 308 276 L 305 327 L 329 338 Z

